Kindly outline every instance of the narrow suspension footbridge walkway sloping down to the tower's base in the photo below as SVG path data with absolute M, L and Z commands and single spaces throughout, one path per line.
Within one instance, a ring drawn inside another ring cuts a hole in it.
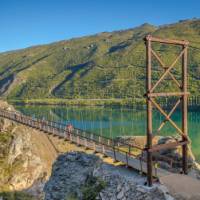
M 71 141 L 77 145 L 84 146 L 85 148 L 92 149 L 94 152 L 99 152 L 105 156 L 113 158 L 115 161 L 125 163 L 126 166 L 132 167 L 142 173 L 147 173 L 146 162 L 141 156 L 134 155 L 134 149 L 142 149 L 123 142 L 116 142 L 111 138 L 100 136 L 94 133 L 83 131 L 80 129 L 74 129 L 73 131 L 67 131 L 65 124 L 59 124 L 52 121 L 33 119 L 29 116 L 22 115 L 20 113 L 6 111 L 0 109 L 0 117 L 13 120 L 15 122 L 24 124 L 26 126 L 39 129 L 46 134 L 53 134 L 65 140 Z M 121 148 L 121 146 L 123 148 Z M 173 173 L 153 166 L 153 176 L 161 178 Z

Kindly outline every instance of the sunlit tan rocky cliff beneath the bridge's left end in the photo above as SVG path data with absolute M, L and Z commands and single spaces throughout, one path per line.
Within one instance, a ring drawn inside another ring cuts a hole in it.
M 8 110 L 12 106 L 2 103 Z M 57 154 L 44 134 L 0 118 L 0 191 L 42 193 Z

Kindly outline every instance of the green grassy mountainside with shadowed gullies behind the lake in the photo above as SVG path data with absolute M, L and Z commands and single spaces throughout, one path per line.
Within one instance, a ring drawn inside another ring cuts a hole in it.
M 189 40 L 189 89 L 199 95 L 200 20 L 103 32 L 48 45 L 0 54 L 0 95 L 10 100 L 25 99 L 132 99 L 138 102 L 145 93 L 145 45 L 152 34 L 161 38 Z M 180 49 L 154 45 L 166 65 Z M 164 57 L 164 55 L 166 57 Z M 163 73 L 153 61 L 153 80 Z M 179 67 L 178 67 L 179 66 Z M 180 62 L 172 70 L 180 78 Z M 167 81 L 160 89 L 173 88 Z

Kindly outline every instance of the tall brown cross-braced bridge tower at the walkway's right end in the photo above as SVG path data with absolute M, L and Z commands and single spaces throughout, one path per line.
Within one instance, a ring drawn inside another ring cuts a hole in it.
M 155 151 L 159 151 L 161 149 L 170 149 L 175 148 L 177 146 L 182 146 L 182 172 L 187 174 L 187 144 L 189 142 L 188 139 L 188 125 L 187 125 L 187 49 L 188 49 L 188 41 L 179 41 L 179 40 L 170 40 L 170 39 L 160 39 L 152 37 L 151 35 L 147 35 L 145 38 L 146 43 L 146 104 L 147 104 L 147 180 L 148 185 L 152 185 L 152 168 L 153 168 L 153 161 L 152 161 L 152 153 Z M 165 45 L 178 45 L 180 46 L 181 52 L 176 57 L 174 62 L 170 66 L 166 66 L 164 62 L 161 60 L 159 55 L 153 50 L 152 43 L 160 43 Z M 152 84 L 152 58 L 155 58 L 159 65 L 163 68 L 163 74 L 158 79 L 158 81 L 153 85 Z M 177 61 L 181 59 L 181 66 L 182 66 L 182 77 L 181 83 L 177 80 L 177 78 L 173 75 L 171 70 L 177 64 Z M 155 92 L 155 89 L 159 86 L 159 84 L 164 81 L 166 76 L 170 76 L 172 81 L 178 86 L 177 92 Z M 159 97 L 179 97 L 175 105 L 173 106 L 172 110 L 169 113 L 166 113 L 164 109 L 156 102 L 156 98 Z M 178 125 L 171 119 L 171 115 L 181 104 L 181 112 L 182 112 L 182 127 L 179 128 Z M 152 139 L 155 132 L 152 129 L 153 118 L 152 118 L 152 108 L 155 107 L 164 117 L 164 121 L 161 123 L 160 127 L 156 130 L 159 132 L 162 127 L 165 125 L 166 122 L 169 122 L 180 134 L 181 139 L 177 142 L 171 142 L 163 145 L 153 145 Z

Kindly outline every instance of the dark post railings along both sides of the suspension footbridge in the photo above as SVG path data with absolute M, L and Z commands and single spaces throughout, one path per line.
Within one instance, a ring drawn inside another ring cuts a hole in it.
M 117 152 L 125 155 L 125 163 L 128 166 L 129 159 L 134 157 L 140 161 L 140 168 L 143 171 L 143 162 L 146 162 L 145 149 L 128 144 L 125 141 L 115 140 L 106 136 L 98 135 L 90 131 L 73 128 L 69 131 L 66 128 L 66 124 L 58 123 L 54 121 L 48 121 L 44 119 L 32 118 L 30 116 L 23 115 L 19 112 L 2 110 L 0 109 L 0 117 L 8 118 L 21 124 L 28 125 L 30 127 L 39 129 L 46 133 L 50 133 L 59 136 L 63 139 L 74 142 L 78 145 L 85 146 L 86 148 L 93 149 L 96 152 L 101 152 L 106 155 L 108 151 L 113 153 L 113 158 L 118 160 Z M 172 160 L 169 160 L 172 163 Z M 154 160 L 156 166 L 157 160 Z M 172 164 L 171 164 L 172 165 Z M 145 166 L 146 167 L 146 166 Z

